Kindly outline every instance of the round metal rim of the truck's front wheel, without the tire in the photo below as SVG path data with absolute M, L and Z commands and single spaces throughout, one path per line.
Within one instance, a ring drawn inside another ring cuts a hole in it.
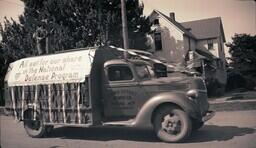
M 179 135 L 182 131 L 182 121 L 176 114 L 167 114 L 163 118 L 161 128 L 168 134 Z

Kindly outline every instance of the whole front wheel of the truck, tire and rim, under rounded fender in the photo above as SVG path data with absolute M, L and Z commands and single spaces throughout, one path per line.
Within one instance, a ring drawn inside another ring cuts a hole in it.
M 192 129 L 188 115 L 178 107 L 163 106 L 155 114 L 154 130 L 164 142 L 182 142 Z

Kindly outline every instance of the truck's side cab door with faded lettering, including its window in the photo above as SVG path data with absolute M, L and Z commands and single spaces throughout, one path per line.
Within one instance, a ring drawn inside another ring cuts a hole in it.
M 109 65 L 105 68 L 103 88 L 105 117 L 132 117 L 138 112 L 138 98 L 142 90 L 129 65 Z

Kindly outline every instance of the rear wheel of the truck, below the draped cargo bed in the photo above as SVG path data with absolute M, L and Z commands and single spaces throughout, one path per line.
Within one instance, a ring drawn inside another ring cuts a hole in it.
M 50 130 L 49 126 L 43 125 L 42 118 L 38 113 L 35 121 L 30 119 L 24 120 L 24 128 L 26 133 L 32 138 L 41 138 Z

